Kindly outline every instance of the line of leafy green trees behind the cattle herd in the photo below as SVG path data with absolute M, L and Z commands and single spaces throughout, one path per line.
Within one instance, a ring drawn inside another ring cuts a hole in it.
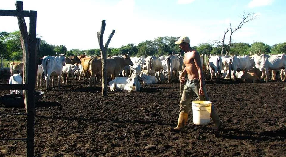
M 122 45 L 120 48 L 108 48 L 107 53 L 111 56 L 116 54 L 127 54 L 130 56 L 162 56 L 169 55 L 172 51 L 175 53 L 181 52 L 181 49 L 174 42 L 178 40 L 179 37 L 158 37 L 154 40 L 146 40 L 138 45 L 129 43 L 127 45 Z M 222 51 L 222 46 L 212 43 L 201 43 L 199 45 L 193 46 L 192 48 L 197 50 L 201 54 L 214 54 L 220 55 Z M 89 50 L 79 50 L 71 49 L 67 51 L 64 45 L 51 45 L 44 40 L 41 40 L 40 45 L 40 57 L 51 55 L 55 56 L 56 52 L 62 54 L 66 52 L 66 56 L 77 56 L 77 54 L 86 53 L 87 55 L 96 56 L 100 53 L 100 49 L 89 49 Z M 231 43 L 229 48 L 229 54 L 232 55 L 245 55 L 251 53 L 266 53 L 266 54 L 282 54 L 286 53 L 286 42 L 277 43 L 273 46 L 267 45 L 260 41 L 254 41 L 252 44 L 249 43 Z M 226 54 L 226 50 L 223 49 L 223 54 Z M 20 42 L 20 31 L 15 32 L 1 32 L 0 33 L 0 55 L 4 59 L 8 60 L 20 60 L 23 56 L 23 51 Z

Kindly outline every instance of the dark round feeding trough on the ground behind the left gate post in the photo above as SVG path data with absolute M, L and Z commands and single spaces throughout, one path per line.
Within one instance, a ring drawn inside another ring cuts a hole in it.
M 35 102 L 38 102 L 45 93 L 42 91 L 35 91 Z M 0 103 L 5 107 L 25 107 L 24 96 L 21 94 L 7 94 L 0 96 Z

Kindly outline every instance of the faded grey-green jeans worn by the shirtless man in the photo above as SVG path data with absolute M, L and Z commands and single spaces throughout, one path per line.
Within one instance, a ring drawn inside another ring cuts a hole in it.
M 203 92 L 204 95 L 199 95 L 200 90 L 200 81 L 199 79 L 189 80 L 185 84 L 183 94 L 180 101 L 180 112 L 189 113 L 189 107 L 191 104 L 191 99 L 194 94 L 198 96 L 200 100 L 206 100 L 209 101 L 208 95 L 206 94 L 205 82 L 203 81 Z M 220 124 L 220 118 L 217 115 L 217 112 L 215 111 L 215 106 L 212 104 L 211 109 L 211 118 L 215 122 L 215 124 Z

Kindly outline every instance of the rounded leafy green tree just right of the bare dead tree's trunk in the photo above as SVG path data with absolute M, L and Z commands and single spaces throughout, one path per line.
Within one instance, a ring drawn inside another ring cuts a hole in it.
M 229 53 L 233 55 L 248 55 L 250 52 L 250 45 L 248 43 L 231 43 Z

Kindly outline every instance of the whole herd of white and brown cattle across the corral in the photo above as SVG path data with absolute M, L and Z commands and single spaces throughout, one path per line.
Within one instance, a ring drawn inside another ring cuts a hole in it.
M 207 64 L 204 64 L 203 56 L 200 61 L 204 73 L 211 74 L 211 80 L 215 76 L 216 80 L 224 79 L 241 79 L 243 82 L 262 82 L 261 79 L 268 82 L 269 70 L 272 72 L 272 80 L 275 80 L 276 72 L 280 70 L 280 77 L 285 81 L 286 55 L 267 55 L 267 54 L 250 54 L 251 56 L 209 56 Z M 110 80 L 109 87 L 111 91 L 127 90 L 140 91 L 140 81 L 143 84 L 154 84 L 159 81 L 170 83 L 176 79 L 182 70 L 183 58 L 181 54 L 168 56 L 140 56 L 130 57 L 128 54 L 109 56 L 106 59 L 107 76 Z M 206 65 L 206 66 L 205 66 Z M 38 62 L 38 78 L 44 73 L 46 80 L 46 90 L 49 91 L 54 86 L 54 76 L 58 76 L 58 85 L 60 82 L 67 83 L 69 74 L 72 79 L 78 80 L 83 78 L 84 82 L 89 81 L 92 87 L 101 79 L 101 56 L 87 56 L 85 53 L 78 56 L 65 57 L 64 54 L 57 56 L 44 56 Z M 18 76 L 23 71 L 23 63 L 10 63 L 11 78 L 9 84 L 21 84 Z M 49 81 L 52 79 L 52 87 Z M 12 91 L 11 91 L 12 92 Z M 15 92 L 15 91 L 14 91 Z

